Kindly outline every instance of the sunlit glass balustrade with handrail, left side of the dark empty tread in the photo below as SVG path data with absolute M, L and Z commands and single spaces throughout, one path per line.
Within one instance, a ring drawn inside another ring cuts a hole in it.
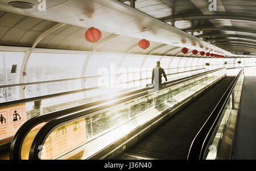
M 224 68 L 211 70 L 59 116 L 44 123 L 31 139 L 28 159 L 108 158 L 119 148 L 128 148 L 129 143 L 175 115 L 225 76 Z

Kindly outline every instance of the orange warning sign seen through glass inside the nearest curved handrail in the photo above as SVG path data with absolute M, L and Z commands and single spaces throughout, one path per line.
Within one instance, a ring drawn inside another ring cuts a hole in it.
M 46 139 L 41 159 L 54 159 L 61 154 L 85 143 L 85 119 L 64 124 L 56 128 Z

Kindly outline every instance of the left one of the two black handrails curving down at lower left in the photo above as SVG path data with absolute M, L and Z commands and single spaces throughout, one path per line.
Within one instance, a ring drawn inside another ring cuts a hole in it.
M 208 72 L 198 73 L 198 74 L 194 74 L 192 76 L 179 78 L 177 80 L 164 82 L 163 85 L 171 84 L 173 82 L 177 82 L 177 81 L 184 80 L 184 79 L 189 79 L 191 77 L 199 76 L 201 74 L 214 72 L 216 70 L 219 70 L 219 69 L 210 70 Z M 52 119 L 57 118 L 59 116 L 63 116 L 63 115 L 70 114 L 72 112 L 88 109 L 89 107 L 96 106 L 96 105 L 99 105 L 99 104 L 104 103 L 104 102 L 108 102 L 109 99 L 112 99 L 112 98 L 123 98 L 123 97 L 129 96 L 129 95 L 139 93 L 141 91 L 148 91 L 149 89 L 152 89 L 152 87 L 153 86 L 148 86 L 148 87 L 144 87 L 142 89 L 133 90 L 133 91 L 129 91 L 127 93 L 115 95 L 114 97 L 99 99 L 97 101 L 85 103 L 83 105 L 79 105 L 79 106 L 75 106 L 75 107 L 70 107 L 68 109 L 49 112 L 48 114 L 35 116 L 34 118 L 31 118 L 31 119 L 27 120 L 27 122 L 25 122 L 22 125 L 22 127 L 20 127 L 19 130 L 16 132 L 16 134 L 13 138 L 13 141 L 11 142 L 10 159 L 15 159 L 15 160 L 21 159 L 20 152 L 21 152 L 21 148 L 22 148 L 22 143 L 23 143 L 25 137 L 27 136 L 28 132 L 30 132 L 32 130 L 32 128 L 34 128 L 36 125 L 38 125 L 40 123 L 43 123 L 43 122 L 48 122 L 49 120 L 52 120 Z

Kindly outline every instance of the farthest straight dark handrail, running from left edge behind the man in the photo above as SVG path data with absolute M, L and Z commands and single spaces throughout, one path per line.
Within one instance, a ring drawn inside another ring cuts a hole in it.
M 175 75 L 175 74 L 180 74 L 180 73 L 186 73 L 186 72 L 192 72 L 192 71 L 201 70 L 201 69 L 205 69 L 205 68 L 199 68 L 199 69 L 193 69 L 193 70 L 185 70 L 185 71 L 183 71 L 183 72 L 166 74 L 166 76 Z M 138 79 L 138 80 L 120 82 L 119 84 L 129 84 L 130 82 L 142 81 L 142 80 L 147 80 L 147 79 L 150 79 L 150 78 L 151 78 L 151 77 L 140 78 L 140 79 Z M 43 100 L 43 99 L 53 98 L 53 97 L 57 97 L 57 96 L 61 96 L 61 95 L 74 94 L 74 93 L 79 93 L 79 92 L 82 92 L 82 91 L 89 91 L 89 90 L 97 90 L 97 89 L 101 89 L 101 88 L 102 88 L 102 87 L 89 87 L 89 88 L 85 88 L 85 89 L 72 90 L 72 91 L 65 91 L 65 92 L 61 92 L 61 93 L 48 94 L 48 95 L 41 95 L 41 96 L 38 96 L 38 97 L 24 98 L 24 99 L 20 99 L 20 100 L 16 100 L 16 101 L 9 101 L 9 102 L 0 103 L 0 107 L 7 107 L 7 106 L 19 105 L 19 104 L 22 104 L 22 103 L 40 101 L 40 100 Z

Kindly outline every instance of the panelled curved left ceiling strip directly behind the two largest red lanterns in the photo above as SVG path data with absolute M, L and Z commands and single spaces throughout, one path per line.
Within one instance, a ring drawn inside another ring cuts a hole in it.
M 57 22 L 0 11 L 0 45 L 32 47 L 32 44 L 41 34 L 56 25 Z M 177 53 L 176 51 L 180 52 L 181 49 L 174 45 L 151 41 L 150 47 L 144 52 L 138 47 L 139 39 L 104 31 L 101 31 L 102 38 L 98 43 L 97 49 L 93 49 L 93 44 L 86 41 L 84 37 L 87 30 L 88 28 L 65 24 L 65 26 L 58 28 L 40 40 L 36 48 L 136 54 L 146 53 L 167 56 L 174 56 Z

